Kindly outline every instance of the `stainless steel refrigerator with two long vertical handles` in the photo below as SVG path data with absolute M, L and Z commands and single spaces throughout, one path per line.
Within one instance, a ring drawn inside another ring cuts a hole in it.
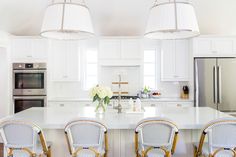
M 236 112 L 236 58 L 195 58 L 195 105 Z

